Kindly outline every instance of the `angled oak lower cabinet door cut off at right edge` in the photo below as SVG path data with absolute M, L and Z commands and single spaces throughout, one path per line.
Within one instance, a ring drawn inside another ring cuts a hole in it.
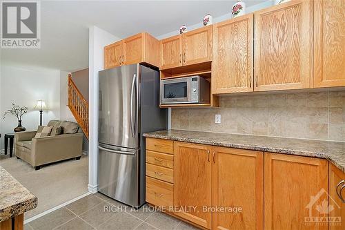
M 345 228 L 345 202 L 342 202 L 337 195 L 338 191 L 339 195 L 341 193 L 342 198 L 345 200 L 345 187 L 342 189 L 342 186 L 345 186 L 345 173 L 337 169 L 333 164 L 329 164 L 329 204 L 333 207 L 333 210 L 330 209 L 329 212 L 330 220 L 332 221 L 329 226 L 331 230 L 342 230 Z

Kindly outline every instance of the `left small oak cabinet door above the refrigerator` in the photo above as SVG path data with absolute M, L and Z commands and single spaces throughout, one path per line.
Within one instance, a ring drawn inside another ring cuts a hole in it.
M 104 69 L 121 66 L 122 41 L 104 47 Z

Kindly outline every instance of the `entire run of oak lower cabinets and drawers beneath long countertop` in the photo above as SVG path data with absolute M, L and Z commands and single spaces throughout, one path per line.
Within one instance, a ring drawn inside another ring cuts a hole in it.
M 152 138 L 146 143 L 146 201 L 172 207 L 170 215 L 197 227 L 344 229 L 345 203 L 337 193 L 345 198 L 345 173 L 328 160 Z

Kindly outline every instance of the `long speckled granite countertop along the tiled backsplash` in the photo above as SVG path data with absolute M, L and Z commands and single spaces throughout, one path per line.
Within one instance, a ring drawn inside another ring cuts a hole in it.
M 210 144 L 230 148 L 243 148 L 271 153 L 321 157 L 329 160 L 345 172 L 345 142 L 326 142 L 284 137 L 180 131 L 174 129 L 145 133 L 144 137 L 197 144 Z

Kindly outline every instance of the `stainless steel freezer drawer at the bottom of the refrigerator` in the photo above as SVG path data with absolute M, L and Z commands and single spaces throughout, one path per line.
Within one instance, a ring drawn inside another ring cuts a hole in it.
M 139 150 L 99 146 L 99 192 L 136 207 L 139 199 Z

